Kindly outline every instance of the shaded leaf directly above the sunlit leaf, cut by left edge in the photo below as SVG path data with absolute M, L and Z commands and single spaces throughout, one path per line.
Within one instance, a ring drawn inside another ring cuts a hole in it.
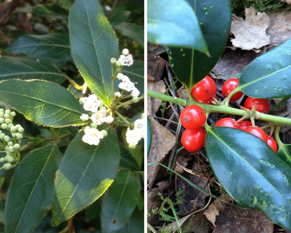
M 66 75 L 51 61 L 35 57 L 0 57 L 0 80 L 42 79 L 62 84 Z

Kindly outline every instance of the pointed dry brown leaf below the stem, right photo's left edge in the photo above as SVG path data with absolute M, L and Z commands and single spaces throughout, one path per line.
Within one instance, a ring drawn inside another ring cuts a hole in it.
M 162 162 L 166 154 L 176 143 L 176 137 L 164 126 L 160 125 L 153 117 L 149 117 L 152 126 L 152 146 L 148 155 L 148 163 Z M 160 166 L 155 164 L 148 166 L 148 187 L 151 189 L 152 184 Z

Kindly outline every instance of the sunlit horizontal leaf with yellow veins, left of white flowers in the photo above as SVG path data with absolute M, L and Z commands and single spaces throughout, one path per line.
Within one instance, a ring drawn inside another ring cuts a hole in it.
M 0 99 L 38 124 L 62 127 L 83 125 L 85 113 L 79 101 L 65 88 L 43 80 L 0 82 Z

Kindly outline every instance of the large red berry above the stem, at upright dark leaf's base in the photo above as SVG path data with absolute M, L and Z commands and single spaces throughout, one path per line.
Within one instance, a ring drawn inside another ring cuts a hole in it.
M 191 93 L 197 100 L 210 100 L 216 93 L 216 84 L 211 77 L 206 76 L 192 88 Z

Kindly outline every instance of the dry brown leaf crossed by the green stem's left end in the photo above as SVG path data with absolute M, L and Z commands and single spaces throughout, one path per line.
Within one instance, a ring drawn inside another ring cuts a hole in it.
M 166 93 L 166 84 L 164 83 L 163 80 L 154 82 L 154 81 L 148 81 L 148 90 L 158 92 L 161 94 Z M 156 112 L 160 108 L 160 104 L 162 103 L 162 100 L 156 99 L 156 98 L 151 98 L 148 96 L 147 99 L 147 104 L 148 104 L 148 116 L 152 116 L 152 112 L 156 114 Z

